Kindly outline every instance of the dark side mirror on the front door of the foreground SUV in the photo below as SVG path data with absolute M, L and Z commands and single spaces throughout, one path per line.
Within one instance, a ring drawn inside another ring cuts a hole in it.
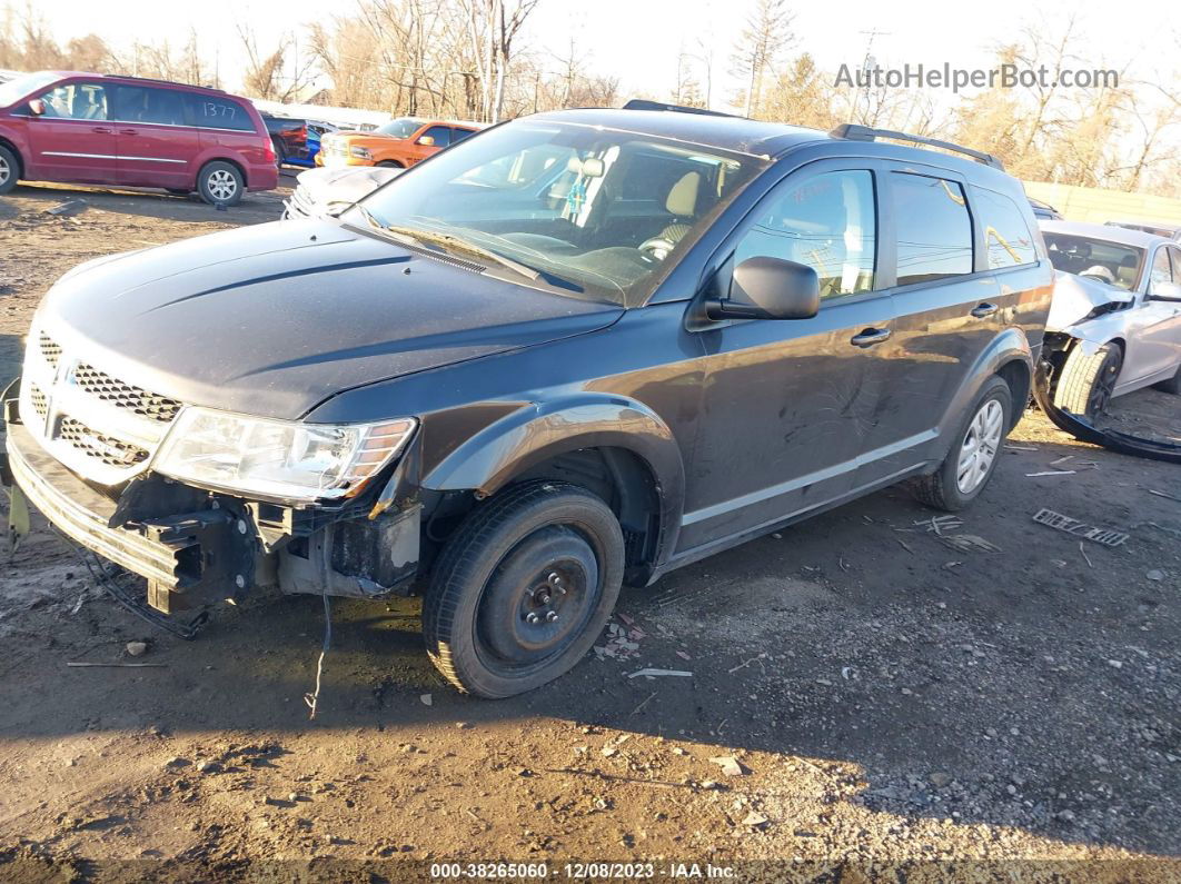
M 730 297 L 705 303 L 710 319 L 811 319 L 818 312 L 816 270 L 764 256 L 746 258 L 735 268 Z

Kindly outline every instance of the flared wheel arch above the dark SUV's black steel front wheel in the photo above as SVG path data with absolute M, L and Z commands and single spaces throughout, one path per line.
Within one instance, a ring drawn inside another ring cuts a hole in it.
M 582 393 L 524 405 L 459 445 L 420 484 L 431 491 L 488 496 L 553 457 L 603 447 L 629 451 L 647 465 L 660 505 L 657 549 L 673 549 L 685 499 L 685 465 L 664 420 L 627 397 Z

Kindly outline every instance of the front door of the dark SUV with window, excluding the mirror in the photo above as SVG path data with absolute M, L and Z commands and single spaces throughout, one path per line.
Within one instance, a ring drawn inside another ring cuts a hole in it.
M 893 333 L 889 296 L 876 290 L 875 191 L 869 169 L 811 164 L 775 186 L 731 237 L 725 279 L 755 256 L 809 264 L 821 309 L 698 333 L 706 374 L 681 550 L 850 490 L 880 395 L 876 349 Z

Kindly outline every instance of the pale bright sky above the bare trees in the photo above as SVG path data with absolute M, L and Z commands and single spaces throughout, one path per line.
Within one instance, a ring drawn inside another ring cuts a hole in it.
M 2 0 L 0 0 L 2 1 Z M 17 0 L 19 2 L 19 0 Z M 234 89 L 240 79 L 237 22 L 247 22 L 261 47 L 285 32 L 296 35 L 301 25 L 325 20 L 329 11 L 346 13 L 350 0 L 202 0 L 178 4 L 162 0 L 41 0 L 39 4 L 59 41 L 96 32 L 119 46 L 131 39 L 164 38 L 184 41 L 194 26 L 204 47 L 221 46 L 223 81 Z M 541 0 L 529 21 L 527 40 L 541 53 L 553 47 L 553 70 L 568 51 L 570 37 L 588 58 L 590 71 L 609 72 L 621 80 L 621 96 L 642 91 L 664 96 L 676 85 L 681 52 L 713 54 L 712 104 L 723 110 L 737 90 L 729 74 L 730 54 L 753 0 Z M 795 45 L 790 53 L 808 51 L 824 70 L 842 64 L 856 68 L 866 54 L 872 31 L 873 55 L 883 66 L 951 63 L 959 67 L 987 67 L 993 48 L 1029 24 L 1059 32 L 1065 5 L 1030 0 L 990 0 L 987 4 L 951 4 L 947 0 L 828 0 L 792 2 Z M 1181 5 L 1154 0 L 1074 0 L 1087 67 L 1122 68 L 1127 76 L 1176 84 L 1181 93 Z M 697 79 L 705 83 L 698 60 Z M 937 96 L 937 99 L 939 97 Z

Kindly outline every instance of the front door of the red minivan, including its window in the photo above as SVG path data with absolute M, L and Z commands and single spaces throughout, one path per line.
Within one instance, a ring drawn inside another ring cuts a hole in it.
M 30 116 L 32 163 L 27 177 L 115 184 L 118 150 L 107 87 L 71 80 L 39 98 L 45 113 Z

